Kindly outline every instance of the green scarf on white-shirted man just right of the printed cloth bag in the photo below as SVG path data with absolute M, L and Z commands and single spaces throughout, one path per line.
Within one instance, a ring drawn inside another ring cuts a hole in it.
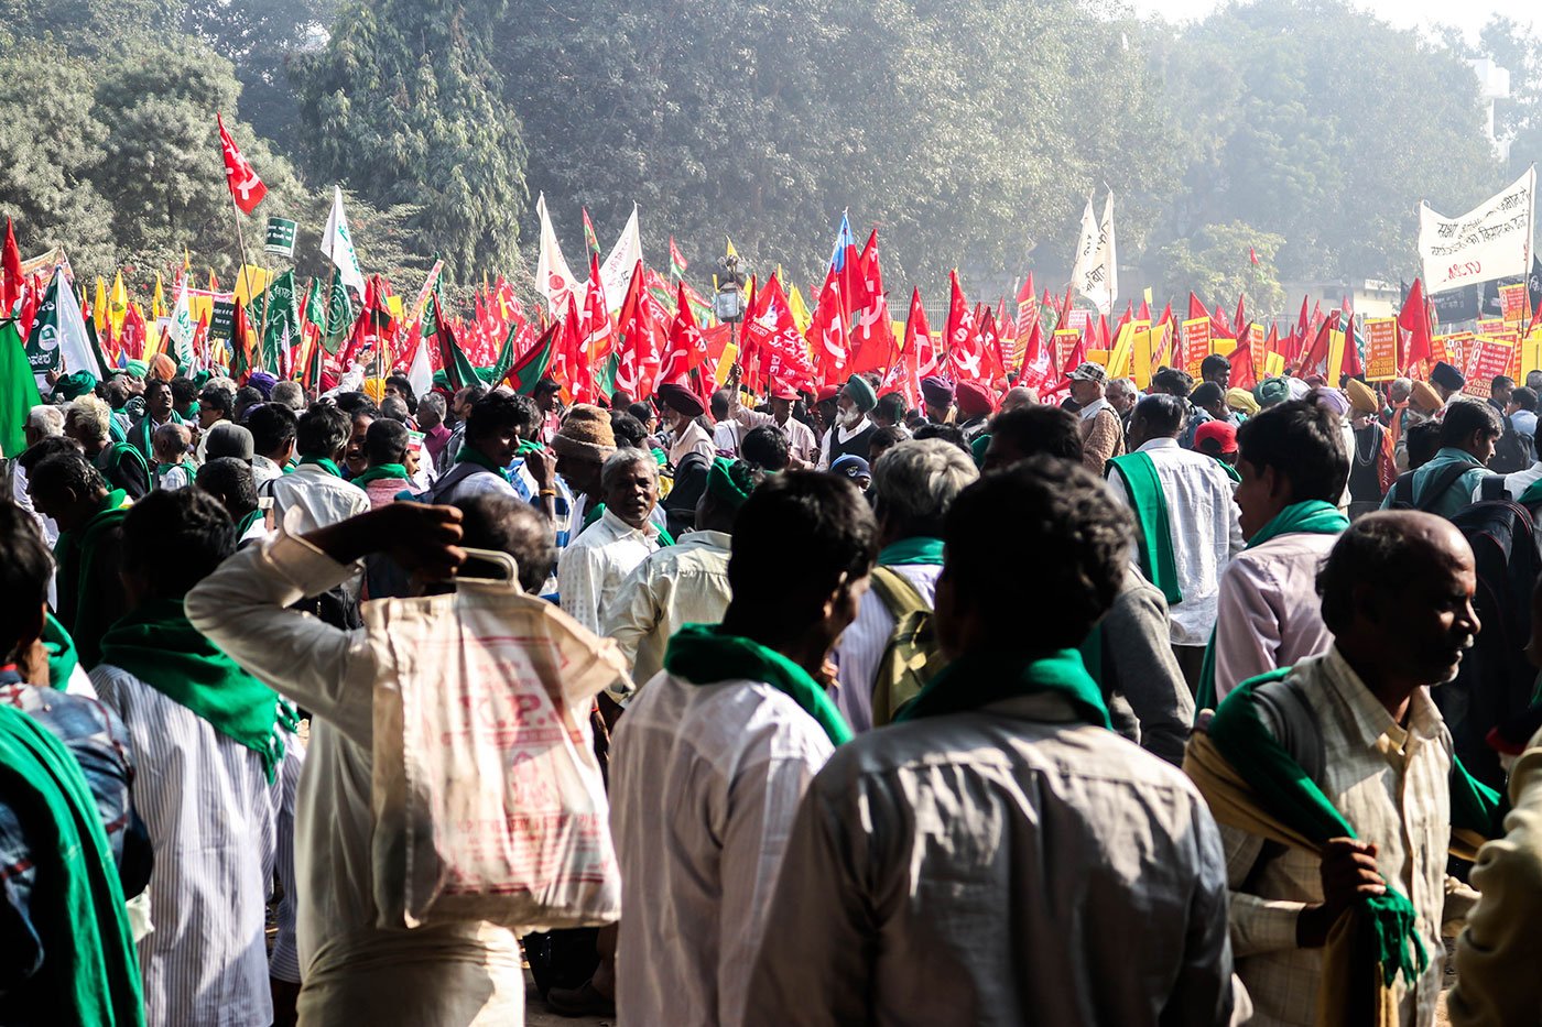
M 722 625 L 686 625 L 677 631 L 665 649 L 665 669 L 692 685 L 765 682 L 819 722 L 831 745 L 851 740 L 847 719 L 808 671 L 774 649 L 728 634 Z

